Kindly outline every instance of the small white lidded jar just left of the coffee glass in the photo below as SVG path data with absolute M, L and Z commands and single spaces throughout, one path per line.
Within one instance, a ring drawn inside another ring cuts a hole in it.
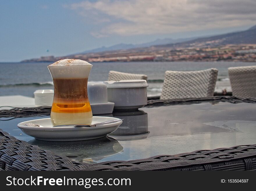
M 35 90 L 36 106 L 52 106 L 54 90 Z

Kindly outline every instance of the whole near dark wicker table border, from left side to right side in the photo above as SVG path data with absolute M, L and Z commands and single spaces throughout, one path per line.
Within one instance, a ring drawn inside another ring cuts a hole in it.
M 0 169 L 3 170 L 255 170 L 256 144 L 139 160 L 96 164 L 74 162 L 65 156 L 17 140 L 0 129 Z

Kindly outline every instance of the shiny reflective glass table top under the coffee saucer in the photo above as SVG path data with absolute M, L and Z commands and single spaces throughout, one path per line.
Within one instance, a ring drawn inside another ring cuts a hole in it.
M 0 118 L 0 128 L 56 155 L 99 163 L 255 144 L 255 109 L 253 103 L 202 102 L 115 111 L 101 115 L 123 119 L 115 132 L 104 138 L 72 142 L 35 140 L 17 127 L 19 122 L 49 116 Z

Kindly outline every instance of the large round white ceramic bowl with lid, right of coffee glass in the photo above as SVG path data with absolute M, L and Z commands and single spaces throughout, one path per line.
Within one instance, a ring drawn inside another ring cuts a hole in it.
M 114 102 L 114 109 L 136 110 L 147 105 L 146 80 L 105 81 L 108 101 Z

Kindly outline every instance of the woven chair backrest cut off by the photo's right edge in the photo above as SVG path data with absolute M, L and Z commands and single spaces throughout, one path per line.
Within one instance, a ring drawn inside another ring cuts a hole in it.
M 256 66 L 228 68 L 232 95 L 256 97 Z

